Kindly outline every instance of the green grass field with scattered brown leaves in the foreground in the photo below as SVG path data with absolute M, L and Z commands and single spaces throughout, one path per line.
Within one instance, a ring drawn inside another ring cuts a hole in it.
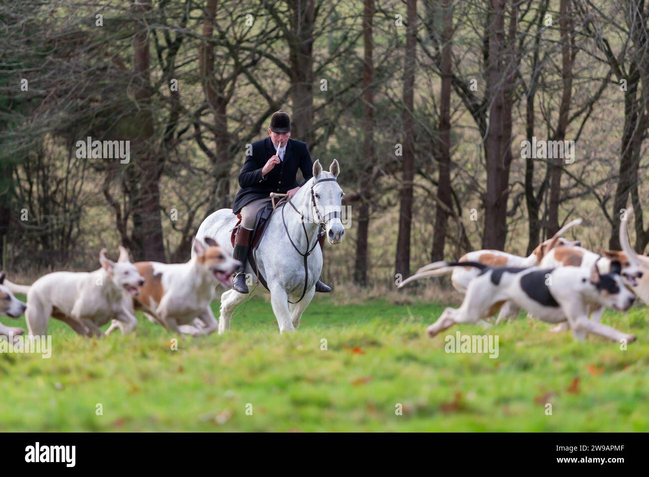
M 299 332 L 281 336 L 270 304 L 254 298 L 230 333 L 187 337 L 178 350 L 143 318 L 136 334 L 104 339 L 53 320 L 50 359 L 0 354 L 0 431 L 649 430 L 646 308 L 604 316 L 637 334 L 628 350 L 575 343 L 522 315 L 448 331 L 498 335 L 496 359 L 450 354 L 444 336 L 426 337 L 441 310 L 323 296 Z

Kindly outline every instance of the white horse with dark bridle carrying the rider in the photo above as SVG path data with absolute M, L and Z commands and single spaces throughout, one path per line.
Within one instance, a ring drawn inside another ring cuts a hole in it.
M 320 162 L 316 160 L 313 164 L 313 177 L 289 202 L 277 206 L 266 224 L 262 241 L 258 244 L 254 256 L 271 293 L 271 304 L 280 333 L 295 331 L 300 326 L 302 313 L 315 293 L 315 282 L 323 268 L 322 252 L 317 247 L 319 230 L 325 230 L 327 241 L 331 244 L 340 243 L 345 234 L 341 221 L 343 190 L 336 181 L 339 171 L 337 160 L 334 160 L 329 172 L 323 171 Z M 230 233 L 236 222 L 232 209 L 217 210 L 203 221 L 196 238 L 200 241 L 204 241 L 206 237 L 212 238 L 221 248 L 232 253 Z M 251 293 L 245 295 L 230 289 L 221 295 L 219 334 L 230 329 L 232 313 L 239 304 L 257 289 L 266 290 L 263 285 L 260 286 L 250 262 L 249 260 L 245 272 L 249 286 L 253 286 Z

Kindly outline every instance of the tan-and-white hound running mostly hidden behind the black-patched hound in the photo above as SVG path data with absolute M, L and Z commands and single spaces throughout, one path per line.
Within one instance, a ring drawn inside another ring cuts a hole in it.
M 554 234 L 552 238 L 549 238 L 541 243 L 541 245 L 538 245 L 528 257 L 520 257 L 499 250 L 477 250 L 464 254 L 459 258 L 458 262 L 478 262 L 489 267 L 534 267 L 539 265 L 541 260 L 543 260 L 546 254 L 552 251 L 554 247 L 561 245 L 565 248 L 569 248 L 582 245 L 578 240 L 570 241 L 562 237 L 565 232 L 570 230 L 570 228 L 580 225 L 580 223 L 582 223 L 582 219 L 575 219 L 566 224 L 556 234 Z M 434 262 L 421 267 L 417 270 L 415 275 L 406 278 L 399 287 L 402 287 L 413 280 L 419 280 L 419 278 L 447 275 L 447 273 L 452 271 L 451 282 L 453 287 L 460 293 L 466 293 L 471 280 L 480 275 L 480 271 L 474 267 L 441 267 L 441 263 L 445 262 Z M 513 304 L 509 302 L 504 304 L 502 308 L 496 309 L 494 313 L 498 312 L 498 310 L 500 310 L 500 313 L 498 314 L 498 323 L 509 317 L 516 316 L 519 313 L 519 308 L 513 306 Z

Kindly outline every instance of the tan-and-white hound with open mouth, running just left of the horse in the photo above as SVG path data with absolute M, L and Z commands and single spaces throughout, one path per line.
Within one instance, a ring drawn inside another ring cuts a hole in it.
M 150 321 L 174 332 L 194 336 L 210 334 L 219 328 L 210 301 L 218 282 L 232 287 L 230 277 L 241 267 L 239 260 L 221 249 L 210 238 L 192 245 L 195 257 L 187 263 L 137 262 L 134 265 L 145 277 L 140 294 L 130 300 L 129 310 L 143 310 Z M 109 334 L 125 326 L 114 320 Z

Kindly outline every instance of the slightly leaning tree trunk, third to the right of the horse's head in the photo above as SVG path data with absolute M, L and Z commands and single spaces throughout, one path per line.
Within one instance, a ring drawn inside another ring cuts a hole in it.
M 451 70 L 451 37 L 453 34 L 453 10 L 449 1 L 442 3 L 444 31 L 442 34 L 441 57 L 441 93 L 439 100 L 439 179 L 437 180 L 437 197 L 444 202 L 448 209 L 436 207 L 435 228 L 433 232 L 433 248 L 431 261 L 444 260 L 444 245 L 448 227 L 448 210 L 452 210 L 450 186 L 450 88 L 452 79 Z

